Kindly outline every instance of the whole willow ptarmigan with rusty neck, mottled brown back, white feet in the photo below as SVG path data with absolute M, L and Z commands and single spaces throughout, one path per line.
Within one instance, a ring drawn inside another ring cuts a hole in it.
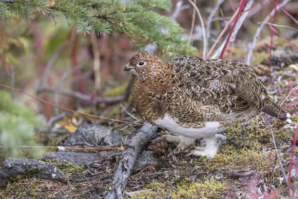
M 164 136 L 186 149 L 196 139 L 206 147 L 191 154 L 212 158 L 217 134 L 241 117 L 263 111 L 278 116 L 279 106 L 266 92 L 252 68 L 229 59 L 184 56 L 163 61 L 148 53 L 135 54 L 125 66 L 137 76 L 133 104 L 141 118 L 179 136 Z M 292 122 L 289 114 L 280 119 Z

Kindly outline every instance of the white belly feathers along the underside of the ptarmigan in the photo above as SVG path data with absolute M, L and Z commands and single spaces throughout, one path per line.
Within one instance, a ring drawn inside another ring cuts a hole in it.
M 157 119 L 154 123 L 165 128 L 171 133 L 175 133 L 188 138 L 208 138 L 224 130 L 220 128 L 220 122 L 206 122 L 204 128 L 184 128 L 177 124 L 168 114 L 163 119 Z

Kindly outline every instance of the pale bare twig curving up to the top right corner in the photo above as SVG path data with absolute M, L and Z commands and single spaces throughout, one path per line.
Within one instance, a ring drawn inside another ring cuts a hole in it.
M 273 16 L 275 14 L 275 12 L 279 9 L 281 9 L 283 6 L 285 6 L 289 1 L 291 0 L 284 0 L 283 2 L 281 2 L 280 4 L 278 4 L 276 6 L 276 8 L 272 9 L 272 11 L 270 12 L 269 15 L 267 15 L 267 17 L 265 18 L 265 20 L 263 21 L 263 23 L 260 25 L 260 27 L 257 29 L 257 32 L 253 38 L 252 44 L 248 50 L 247 56 L 246 56 L 246 65 L 250 64 L 250 59 L 252 56 L 252 51 L 254 49 L 254 47 L 256 46 L 257 40 L 259 38 L 259 35 L 261 34 L 264 26 L 267 24 L 267 22 L 269 22 L 269 20 L 271 19 L 271 16 Z

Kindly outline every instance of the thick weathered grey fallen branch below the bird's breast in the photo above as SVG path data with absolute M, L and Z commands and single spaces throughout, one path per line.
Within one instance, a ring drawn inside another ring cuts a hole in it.
M 131 143 L 122 152 L 122 159 L 113 177 L 112 190 L 105 199 L 123 199 L 122 191 L 126 187 L 127 180 L 137 157 L 145 145 L 152 139 L 156 130 L 156 126 L 145 123 L 138 131 L 138 134 L 132 139 Z

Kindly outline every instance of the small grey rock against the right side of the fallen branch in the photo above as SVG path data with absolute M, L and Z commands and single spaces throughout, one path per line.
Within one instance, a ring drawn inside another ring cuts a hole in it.
M 143 150 L 137 158 L 137 161 L 133 167 L 133 172 L 140 171 L 141 169 L 156 163 L 157 159 L 155 153 L 153 151 Z

